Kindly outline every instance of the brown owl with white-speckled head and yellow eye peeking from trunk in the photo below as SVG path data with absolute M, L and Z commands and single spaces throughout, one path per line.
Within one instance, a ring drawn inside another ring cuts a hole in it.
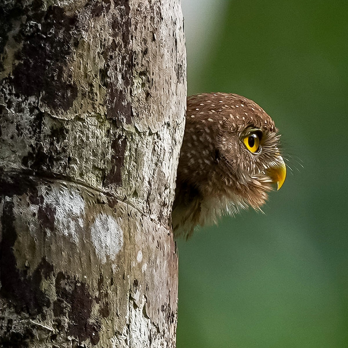
M 189 97 L 172 211 L 175 236 L 188 238 L 222 214 L 260 209 L 272 187 L 285 181 L 279 140 L 274 121 L 250 99 Z

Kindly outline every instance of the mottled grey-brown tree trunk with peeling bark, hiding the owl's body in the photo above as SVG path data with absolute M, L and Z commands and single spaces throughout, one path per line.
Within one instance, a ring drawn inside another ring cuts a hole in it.
M 179 0 L 0 4 L 0 347 L 174 347 Z

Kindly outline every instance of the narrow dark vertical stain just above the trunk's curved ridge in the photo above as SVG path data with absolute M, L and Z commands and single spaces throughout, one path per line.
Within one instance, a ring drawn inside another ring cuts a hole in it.
M 121 136 L 112 141 L 111 168 L 105 177 L 104 184 L 122 184 L 122 167 L 125 160 L 126 144 L 126 138 L 122 139 Z

